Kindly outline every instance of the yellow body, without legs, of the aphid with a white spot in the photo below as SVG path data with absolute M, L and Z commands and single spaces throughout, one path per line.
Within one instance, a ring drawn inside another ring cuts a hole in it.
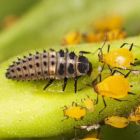
M 129 68 L 134 63 L 133 53 L 126 48 L 119 48 L 100 57 L 101 61 L 111 67 Z

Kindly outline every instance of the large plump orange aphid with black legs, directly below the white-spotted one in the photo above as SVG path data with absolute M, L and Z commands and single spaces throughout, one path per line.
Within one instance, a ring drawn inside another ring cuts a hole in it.
M 111 75 L 105 78 L 103 81 L 101 81 L 101 74 L 93 81 L 93 87 L 94 90 L 97 93 L 97 101 L 98 103 L 98 95 L 102 96 L 104 108 L 101 110 L 103 111 L 107 104 L 105 102 L 104 97 L 109 97 L 117 101 L 127 101 L 127 100 L 120 100 L 123 97 L 126 97 L 128 94 L 135 95 L 134 93 L 130 92 L 131 85 L 129 84 L 129 81 L 127 79 L 127 76 L 130 74 L 131 70 L 124 75 L 114 75 L 115 72 L 119 72 L 115 70 Z M 100 82 L 98 83 L 97 80 L 100 78 Z M 117 88 L 116 88 L 117 87 Z M 101 112 L 100 111 L 100 112 Z

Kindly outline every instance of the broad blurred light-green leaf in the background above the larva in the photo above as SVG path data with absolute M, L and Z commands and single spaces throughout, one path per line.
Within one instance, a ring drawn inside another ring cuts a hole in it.
M 13 27 L 0 34 L 0 61 L 27 49 L 59 45 L 67 32 L 85 31 L 93 21 L 103 15 L 121 15 L 128 34 L 134 34 L 133 30 L 137 34 L 139 26 L 133 25 L 140 15 L 139 9 L 139 0 L 42 0 Z M 132 20 L 135 15 L 135 20 Z

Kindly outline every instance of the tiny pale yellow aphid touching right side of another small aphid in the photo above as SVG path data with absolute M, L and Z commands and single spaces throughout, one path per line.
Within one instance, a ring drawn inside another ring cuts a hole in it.
M 88 97 L 82 100 L 82 102 L 84 103 L 84 106 L 88 111 L 91 111 L 91 112 L 94 111 L 94 101 L 92 99 Z

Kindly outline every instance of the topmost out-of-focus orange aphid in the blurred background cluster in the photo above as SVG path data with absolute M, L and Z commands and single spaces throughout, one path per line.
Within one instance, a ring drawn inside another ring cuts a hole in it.
M 121 29 L 123 26 L 123 19 L 121 16 L 104 17 L 94 24 L 97 31 L 110 31 L 113 29 Z

